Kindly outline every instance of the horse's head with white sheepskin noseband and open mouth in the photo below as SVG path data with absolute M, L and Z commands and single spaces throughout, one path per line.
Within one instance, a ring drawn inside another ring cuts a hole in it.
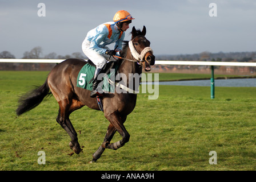
M 150 65 L 155 64 L 155 56 L 153 55 L 153 50 L 150 48 L 150 42 L 145 38 L 145 35 L 145 26 L 143 26 L 142 31 L 136 30 L 135 27 L 133 27 L 129 47 L 132 55 L 138 60 L 138 63 L 148 72 L 151 70 Z

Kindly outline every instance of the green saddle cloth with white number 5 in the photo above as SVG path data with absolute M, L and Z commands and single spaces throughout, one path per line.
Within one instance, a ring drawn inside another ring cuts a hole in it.
M 99 83 L 99 85 L 102 85 L 102 90 L 104 92 L 110 92 L 110 93 L 115 92 L 114 85 L 109 84 L 108 80 L 109 80 L 109 78 L 115 78 L 115 72 L 118 71 L 118 68 L 119 68 L 119 64 L 115 63 L 113 65 L 113 68 L 111 69 L 111 71 L 108 74 L 103 73 L 103 75 L 101 75 L 101 73 L 100 73 L 98 75 L 98 76 L 104 76 L 103 82 Z M 90 64 L 84 65 L 77 76 L 77 87 L 87 89 L 90 91 L 93 90 L 93 81 L 91 81 L 91 80 L 94 77 L 95 69 L 96 68 Z

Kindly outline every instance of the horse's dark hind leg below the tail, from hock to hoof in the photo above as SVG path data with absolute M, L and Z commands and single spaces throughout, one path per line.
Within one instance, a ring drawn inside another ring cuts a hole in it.
M 78 143 L 77 133 L 74 130 L 73 125 L 70 122 L 70 101 L 62 100 L 59 101 L 59 114 L 56 121 L 63 127 L 63 129 L 69 134 L 71 141 L 69 143 L 70 148 L 74 150 L 76 154 L 81 152 L 81 147 Z

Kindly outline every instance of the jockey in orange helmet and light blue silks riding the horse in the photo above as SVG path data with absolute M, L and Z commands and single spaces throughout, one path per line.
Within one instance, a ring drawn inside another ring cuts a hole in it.
M 97 78 L 99 72 L 101 72 L 101 69 L 107 63 L 107 59 L 113 55 L 120 56 L 125 31 L 129 28 L 132 19 L 134 18 L 127 11 L 118 11 L 114 15 L 114 22 L 100 24 L 98 27 L 90 30 L 85 40 L 83 40 L 83 53 L 96 65 L 93 90 L 91 91 L 90 97 L 96 97 L 98 94 L 97 86 L 101 80 L 95 78 Z M 115 43 L 114 50 L 106 47 L 112 43 Z

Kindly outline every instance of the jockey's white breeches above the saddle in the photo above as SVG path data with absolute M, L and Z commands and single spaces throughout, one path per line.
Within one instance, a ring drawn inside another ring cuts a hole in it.
M 110 50 L 108 47 L 104 47 L 107 50 Z M 87 40 L 84 40 L 82 43 L 82 50 L 83 53 L 96 65 L 96 68 L 103 68 L 104 65 L 107 62 L 107 59 L 109 59 L 109 55 L 100 55 L 99 53 L 93 51 L 93 49 L 90 49 L 90 42 Z M 115 61 L 113 57 L 109 61 Z

